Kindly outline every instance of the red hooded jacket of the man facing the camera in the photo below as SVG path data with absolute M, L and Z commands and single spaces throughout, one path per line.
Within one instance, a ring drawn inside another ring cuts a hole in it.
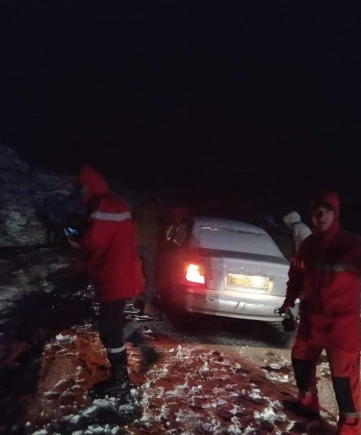
M 340 229 L 340 201 L 327 192 L 311 202 L 327 204 L 335 220 L 326 231 L 313 228 L 292 259 L 286 303 L 301 299 L 299 334 L 317 346 L 361 347 L 361 241 Z

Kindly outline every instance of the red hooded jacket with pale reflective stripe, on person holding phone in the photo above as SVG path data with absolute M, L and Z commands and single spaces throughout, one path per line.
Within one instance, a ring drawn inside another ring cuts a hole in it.
M 136 236 L 127 205 L 103 177 L 88 165 L 77 182 L 85 189 L 89 225 L 80 242 L 89 254 L 88 273 L 100 301 L 126 299 L 142 290 Z

